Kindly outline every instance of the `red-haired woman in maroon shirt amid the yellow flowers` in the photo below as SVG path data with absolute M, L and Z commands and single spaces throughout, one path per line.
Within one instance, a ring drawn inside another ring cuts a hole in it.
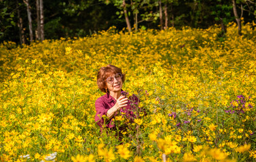
M 114 117 L 122 112 L 132 121 L 134 114 L 134 105 L 138 104 L 139 99 L 133 94 L 129 99 L 126 92 L 122 90 L 125 81 L 125 74 L 115 65 L 107 65 L 100 68 L 97 76 L 98 88 L 106 94 L 99 97 L 95 102 L 96 115 L 95 121 L 100 129 L 115 128 Z M 103 117 L 105 115 L 106 117 Z

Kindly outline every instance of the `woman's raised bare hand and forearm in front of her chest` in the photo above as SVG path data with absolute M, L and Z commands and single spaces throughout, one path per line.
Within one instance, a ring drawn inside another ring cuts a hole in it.
M 128 98 L 125 97 L 124 95 L 121 95 L 115 105 L 113 107 L 111 107 L 108 111 L 107 111 L 107 117 L 109 117 L 109 119 L 111 117 L 113 117 L 113 115 L 115 114 L 116 111 L 120 110 L 122 107 L 126 107 L 128 103 Z

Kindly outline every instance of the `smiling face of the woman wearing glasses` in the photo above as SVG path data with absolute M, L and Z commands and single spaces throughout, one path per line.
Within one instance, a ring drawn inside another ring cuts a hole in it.
M 121 91 L 122 86 L 122 74 L 113 74 L 107 78 L 107 88 L 109 89 L 109 92 Z

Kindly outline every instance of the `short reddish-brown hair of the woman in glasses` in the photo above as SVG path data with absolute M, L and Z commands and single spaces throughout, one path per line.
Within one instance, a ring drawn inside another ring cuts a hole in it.
M 122 74 L 122 70 L 120 68 L 117 68 L 114 65 L 109 64 L 106 67 L 100 68 L 97 75 L 97 85 L 101 92 L 107 92 L 107 82 L 106 82 L 107 78 L 117 73 Z M 122 74 L 123 83 L 125 79 L 126 79 L 126 74 Z

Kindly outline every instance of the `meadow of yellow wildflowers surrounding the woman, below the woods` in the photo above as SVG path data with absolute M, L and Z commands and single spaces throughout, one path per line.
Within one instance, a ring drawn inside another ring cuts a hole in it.
M 1 44 L 0 161 L 256 161 L 256 30 L 220 31 L 113 27 Z M 109 63 L 147 114 L 117 115 L 128 129 L 101 134 L 96 74 Z

